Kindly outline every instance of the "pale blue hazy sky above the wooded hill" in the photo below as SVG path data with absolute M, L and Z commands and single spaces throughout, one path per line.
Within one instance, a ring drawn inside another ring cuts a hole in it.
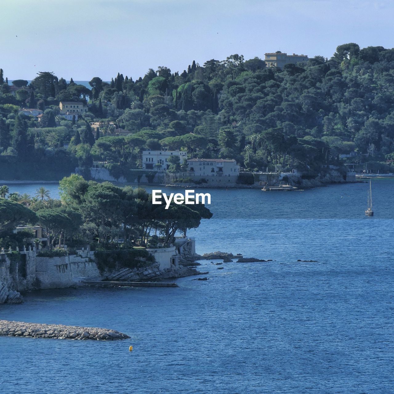
M 392 48 L 394 2 L 373 0 L 1 0 L 0 68 L 9 80 L 134 80 L 149 68 L 265 52 Z M 7 17 L 5 17 L 7 15 Z

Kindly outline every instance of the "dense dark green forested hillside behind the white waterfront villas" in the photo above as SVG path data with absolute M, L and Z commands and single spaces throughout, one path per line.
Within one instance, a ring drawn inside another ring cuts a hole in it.
M 138 168 L 143 149 L 161 148 L 234 158 L 250 171 L 279 164 L 310 173 L 355 151 L 352 162 L 394 171 L 394 49 L 381 46 L 344 44 L 331 59 L 283 69 L 235 54 L 193 61 L 183 72 L 149 69 L 136 80 L 94 77 L 91 89 L 50 72 L 13 84 L 26 88 L 13 95 L 1 71 L 0 169 L 15 178 L 61 178 L 93 160 L 119 175 Z M 89 112 L 62 119 L 61 100 L 83 101 Z M 20 107 L 45 112 L 38 121 L 18 115 Z M 131 134 L 116 136 L 115 128 Z

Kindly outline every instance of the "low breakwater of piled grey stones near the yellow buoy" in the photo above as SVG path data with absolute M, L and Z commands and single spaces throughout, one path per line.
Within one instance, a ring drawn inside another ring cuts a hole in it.
M 130 336 L 116 330 L 97 327 L 75 327 L 60 324 L 10 322 L 0 320 L 0 336 L 23 336 L 26 338 L 55 338 L 76 340 L 112 341 Z

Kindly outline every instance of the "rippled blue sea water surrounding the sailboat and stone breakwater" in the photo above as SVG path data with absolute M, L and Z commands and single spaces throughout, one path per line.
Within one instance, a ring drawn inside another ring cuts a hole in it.
M 9 184 L 29 194 L 41 185 L 21 186 Z M 131 336 L 0 337 L 1 392 L 394 392 L 394 180 L 373 180 L 370 218 L 367 188 L 210 190 L 214 217 L 189 234 L 197 252 L 273 262 L 203 262 L 210 279 L 179 288 L 46 290 L 1 306 L 4 319 Z

